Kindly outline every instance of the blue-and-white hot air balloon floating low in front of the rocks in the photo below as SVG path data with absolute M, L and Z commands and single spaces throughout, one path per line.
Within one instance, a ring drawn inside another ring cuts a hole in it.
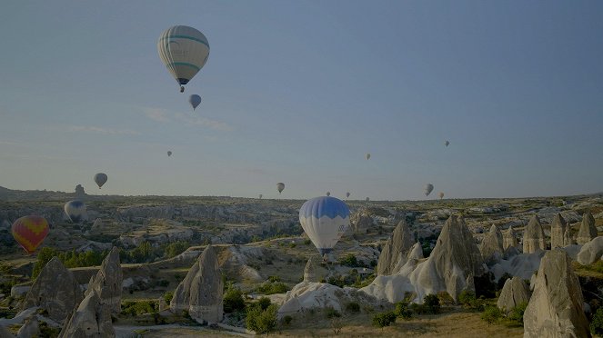
M 349 209 L 335 197 L 316 197 L 299 209 L 299 223 L 322 256 L 330 253 L 347 231 Z

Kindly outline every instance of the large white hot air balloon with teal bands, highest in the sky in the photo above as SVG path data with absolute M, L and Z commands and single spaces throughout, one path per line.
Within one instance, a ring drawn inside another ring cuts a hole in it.
M 157 52 L 183 93 L 184 85 L 206 65 L 209 43 L 206 35 L 195 28 L 175 25 L 159 36 Z

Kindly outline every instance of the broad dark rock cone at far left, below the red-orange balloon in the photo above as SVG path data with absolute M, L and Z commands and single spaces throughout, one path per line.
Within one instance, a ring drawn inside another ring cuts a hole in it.
M 22 310 L 37 306 L 48 313 L 48 318 L 62 323 L 82 298 L 84 295 L 74 274 L 53 257 L 35 278 Z

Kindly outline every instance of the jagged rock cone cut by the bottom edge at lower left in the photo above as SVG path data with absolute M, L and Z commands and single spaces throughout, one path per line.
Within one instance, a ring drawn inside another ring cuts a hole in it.
M 111 311 L 109 304 L 103 303 L 95 290 L 86 293 L 65 323 L 59 338 L 115 337 Z

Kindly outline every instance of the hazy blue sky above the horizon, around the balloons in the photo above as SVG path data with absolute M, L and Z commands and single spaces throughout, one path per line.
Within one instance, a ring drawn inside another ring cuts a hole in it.
M 211 46 L 185 94 L 156 51 L 171 25 Z M 601 1 L 12 1 L 0 29 L 8 188 L 603 190 Z

